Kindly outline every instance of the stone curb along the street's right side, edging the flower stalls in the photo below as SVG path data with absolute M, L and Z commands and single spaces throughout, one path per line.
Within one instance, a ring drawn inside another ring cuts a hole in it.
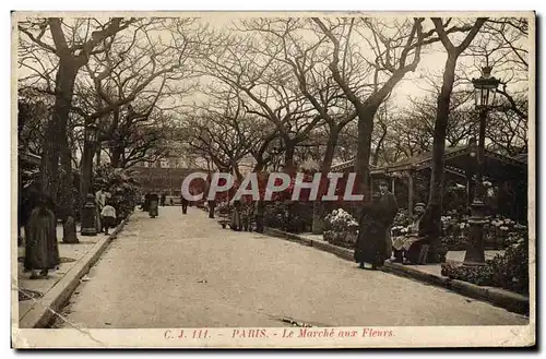
M 287 239 L 293 242 L 298 242 L 304 246 L 314 247 L 321 251 L 335 254 L 344 260 L 354 261 L 353 250 L 334 246 L 327 241 L 312 240 L 309 238 L 304 238 L 298 235 L 285 232 L 283 230 L 270 227 L 265 227 L 264 234 L 273 237 Z M 492 287 L 480 287 L 472 283 L 458 279 L 450 279 L 430 273 L 424 273 L 411 265 L 403 265 L 400 263 L 385 263 L 385 265 L 382 267 L 382 271 L 417 279 L 419 282 L 428 283 L 439 287 L 443 287 L 466 297 L 484 300 L 494 306 L 505 308 L 510 312 L 519 314 L 529 314 L 530 310 L 529 297 L 514 294 L 508 290 L 503 290 L 500 288 L 492 288 Z

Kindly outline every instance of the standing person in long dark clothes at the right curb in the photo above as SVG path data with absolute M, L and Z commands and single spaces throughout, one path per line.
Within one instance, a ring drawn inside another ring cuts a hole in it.
M 387 181 L 379 183 L 379 196 L 363 208 L 355 248 L 355 261 L 360 268 L 376 270 L 392 255 L 390 229 L 399 211 L 396 199 L 389 192 Z

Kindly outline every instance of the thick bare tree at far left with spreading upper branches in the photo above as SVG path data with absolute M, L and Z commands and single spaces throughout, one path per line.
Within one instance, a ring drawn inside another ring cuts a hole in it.
M 57 57 L 56 70 L 46 70 L 49 73 L 52 71 L 57 73 L 52 117 L 45 131 L 41 187 L 54 202 L 60 204 L 64 220 L 73 217 L 72 159 L 67 129 L 78 72 L 90 61 L 92 55 L 105 51 L 105 47 L 100 46 L 105 39 L 128 28 L 134 22 L 134 19 L 116 17 L 103 24 L 95 19 L 64 21 L 49 17 L 17 24 L 22 51 L 28 53 L 39 50 Z M 25 59 L 27 58 L 23 57 L 22 61 Z M 59 171 L 59 158 L 62 172 Z M 59 191 L 61 182 L 63 191 Z M 61 194 L 59 201 L 57 201 L 58 194 Z M 78 242 L 75 227 L 64 231 L 63 241 Z

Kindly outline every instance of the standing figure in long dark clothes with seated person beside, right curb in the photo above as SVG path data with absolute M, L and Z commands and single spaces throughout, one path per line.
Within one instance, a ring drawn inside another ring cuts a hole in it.
M 363 207 L 360 230 L 355 248 L 355 261 L 359 263 L 360 268 L 377 270 L 387 260 L 393 259 L 393 260 L 397 262 L 420 263 L 422 250 L 428 248 L 426 238 L 419 236 L 425 204 L 416 205 L 415 218 L 410 226 L 408 235 L 393 241 L 390 229 L 397 211 L 396 199 L 389 192 L 387 181 L 380 181 L 379 193 Z

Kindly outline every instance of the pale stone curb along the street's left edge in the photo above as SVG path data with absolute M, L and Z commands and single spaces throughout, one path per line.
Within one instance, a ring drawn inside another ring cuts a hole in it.
M 118 234 L 123 229 L 129 222 L 131 214 L 109 235 L 100 239 L 83 258 L 41 297 L 19 322 L 20 328 L 44 328 L 50 323 L 54 318 L 54 311 L 58 312 L 63 304 L 70 299 L 72 292 L 80 284 L 80 279 L 88 273 L 91 267 L 98 260 L 112 239 L 116 239 Z

